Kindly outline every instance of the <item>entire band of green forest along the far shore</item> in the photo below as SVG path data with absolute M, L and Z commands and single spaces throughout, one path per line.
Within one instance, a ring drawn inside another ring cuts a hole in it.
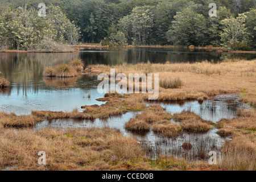
M 214 46 L 256 49 L 256 0 L 1 0 L 0 49 L 102 46 Z M 209 16 L 216 3 L 217 16 Z

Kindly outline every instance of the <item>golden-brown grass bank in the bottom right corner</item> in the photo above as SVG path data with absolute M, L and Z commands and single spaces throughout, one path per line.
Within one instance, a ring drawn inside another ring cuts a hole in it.
M 222 137 L 232 140 L 222 147 L 218 167 L 224 170 L 256 170 L 256 111 L 240 110 L 233 119 L 221 119 L 216 124 Z

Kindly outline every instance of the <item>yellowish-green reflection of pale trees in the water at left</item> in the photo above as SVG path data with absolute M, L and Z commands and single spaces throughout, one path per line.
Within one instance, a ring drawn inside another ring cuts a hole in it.
M 38 92 L 43 71 L 60 63 L 79 58 L 79 53 L 0 53 L 0 70 L 26 96 L 28 89 Z

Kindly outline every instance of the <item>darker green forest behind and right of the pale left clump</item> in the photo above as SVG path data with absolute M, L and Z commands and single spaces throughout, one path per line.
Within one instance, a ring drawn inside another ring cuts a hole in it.
M 36 11 L 40 2 L 1 0 L 0 11 L 1 14 L 6 9 L 13 11 L 26 3 L 27 9 Z M 61 16 L 69 20 L 65 22 L 73 22 L 73 32 L 80 31 L 81 42 L 110 46 L 192 44 L 256 48 L 256 0 L 44 0 L 44 3 L 47 14 L 51 14 L 52 7 L 59 7 Z M 208 15 L 209 3 L 216 3 L 216 17 Z M 57 30 L 57 24 L 52 26 Z M 63 31 L 53 39 L 72 43 L 69 40 L 72 31 L 69 36 Z

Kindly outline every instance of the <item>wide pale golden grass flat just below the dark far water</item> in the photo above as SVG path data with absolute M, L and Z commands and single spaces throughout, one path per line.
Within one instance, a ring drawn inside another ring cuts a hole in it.
M 179 77 L 183 81 L 180 89 L 159 88 L 158 101 L 206 100 L 220 94 L 241 93 L 241 100 L 255 106 L 256 60 L 225 60 L 222 63 L 174 63 L 174 64 L 126 64 L 90 65 L 92 73 L 159 73 L 160 80 L 172 81 Z M 246 93 L 243 90 L 247 90 Z M 144 100 L 147 100 L 144 96 Z

